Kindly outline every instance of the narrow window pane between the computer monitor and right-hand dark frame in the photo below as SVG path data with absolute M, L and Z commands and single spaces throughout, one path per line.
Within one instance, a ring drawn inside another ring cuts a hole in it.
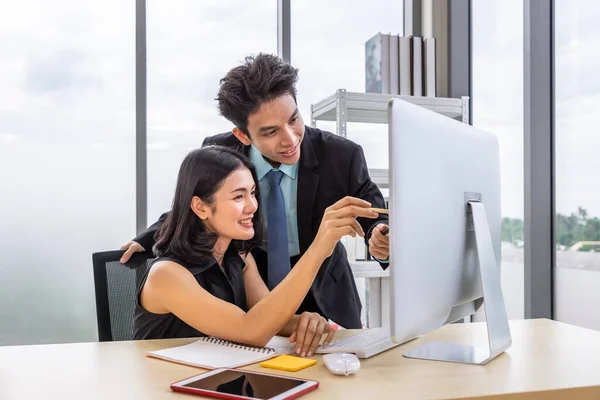
M 473 125 L 500 143 L 502 287 L 509 318 L 523 318 L 523 2 L 471 4 Z

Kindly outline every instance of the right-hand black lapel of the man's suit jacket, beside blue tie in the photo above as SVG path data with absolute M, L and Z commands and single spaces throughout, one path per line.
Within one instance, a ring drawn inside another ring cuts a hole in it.
M 300 241 L 300 253 L 304 254 L 311 244 L 311 222 L 312 212 L 319 186 L 319 174 L 314 169 L 319 165 L 317 156 L 313 149 L 309 129 L 306 129 L 304 140 L 300 147 L 300 165 L 298 168 L 298 239 Z

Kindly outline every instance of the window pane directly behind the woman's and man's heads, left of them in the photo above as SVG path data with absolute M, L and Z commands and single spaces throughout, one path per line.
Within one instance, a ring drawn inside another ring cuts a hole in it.
M 185 155 L 233 126 L 219 80 L 244 57 L 277 54 L 277 2 L 147 2 L 148 222 L 168 211 Z

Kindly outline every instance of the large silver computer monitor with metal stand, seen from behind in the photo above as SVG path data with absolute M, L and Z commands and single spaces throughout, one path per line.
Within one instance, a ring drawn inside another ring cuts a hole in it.
M 392 341 L 485 302 L 489 346 L 428 343 L 407 357 L 484 364 L 511 345 L 500 288 L 496 137 L 401 99 L 389 104 Z

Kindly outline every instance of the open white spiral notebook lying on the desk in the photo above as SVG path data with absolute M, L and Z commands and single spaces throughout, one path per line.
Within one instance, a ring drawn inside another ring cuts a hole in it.
M 190 344 L 150 351 L 148 356 L 194 367 L 237 368 L 295 352 L 288 338 L 275 336 L 265 347 L 249 346 L 206 336 Z

